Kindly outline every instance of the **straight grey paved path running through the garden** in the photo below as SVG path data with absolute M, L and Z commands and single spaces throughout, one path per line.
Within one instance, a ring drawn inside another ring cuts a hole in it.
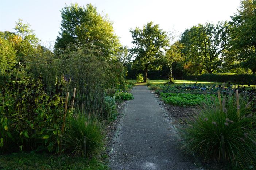
M 111 169 L 197 169 L 181 155 L 177 132 L 148 88 L 135 86 L 132 94 L 113 141 Z

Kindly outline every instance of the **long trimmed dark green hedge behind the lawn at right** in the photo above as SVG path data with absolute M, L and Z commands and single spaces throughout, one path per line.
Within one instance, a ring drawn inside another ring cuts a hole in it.
M 184 80 L 195 80 L 195 75 L 185 75 Z M 256 74 L 201 74 L 198 81 L 232 82 L 238 84 L 256 84 Z

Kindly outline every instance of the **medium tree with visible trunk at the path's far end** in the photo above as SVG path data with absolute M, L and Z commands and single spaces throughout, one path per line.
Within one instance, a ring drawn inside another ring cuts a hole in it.
M 130 29 L 135 46 L 130 49 L 132 55 L 135 55 L 133 68 L 144 71 L 144 82 L 147 81 L 147 72 L 149 69 L 157 70 L 160 68 L 158 61 L 164 56 L 164 51 L 169 46 L 169 39 L 166 32 L 159 29 L 159 25 L 153 25 L 149 22 L 143 26 L 143 29 L 136 27 Z

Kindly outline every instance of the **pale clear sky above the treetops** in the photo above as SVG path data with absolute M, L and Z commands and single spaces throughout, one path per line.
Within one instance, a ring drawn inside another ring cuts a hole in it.
M 230 20 L 240 0 L 0 0 L 0 31 L 13 31 L 18 18 L 31 25 L 42 44 L 52 43 L 60 31 L 59 10 L 66 4 L 91 3 L 113 21 L 123 45 L 131 47 L 130 28 L 149 21 L 164 31 L 174 27 L 178 34 L 199 23 Z

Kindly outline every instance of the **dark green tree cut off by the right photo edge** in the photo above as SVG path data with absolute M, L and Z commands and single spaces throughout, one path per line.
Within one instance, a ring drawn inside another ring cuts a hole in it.
M 234 59 L 256 73 L 256 0 L 241 1 L 238 13 L 231 17 L 230 48 Z M 231 57 L 232 57 L 231 56 Z

